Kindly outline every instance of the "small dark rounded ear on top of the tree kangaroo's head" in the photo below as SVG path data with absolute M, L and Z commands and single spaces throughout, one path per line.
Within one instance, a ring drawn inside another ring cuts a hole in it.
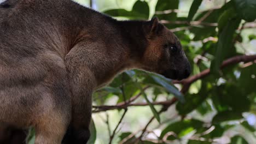
M 149 21 L 149 25 L 147 26 L 147 33 L 150 36 L 153 36 L 159 34 L 163 28 L 164 25 L 160 23 L 158 17 L 153 17 L 152 20 Z

